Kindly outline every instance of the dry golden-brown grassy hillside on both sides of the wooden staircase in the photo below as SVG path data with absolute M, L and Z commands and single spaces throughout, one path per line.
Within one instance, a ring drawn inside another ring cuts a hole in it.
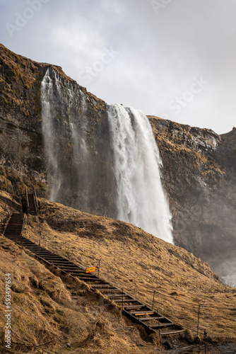
M 155 290 L 155 307 L 189 329 L 189 339 L 196 337 L 201 303 L 200 332 L 206 329 L 220 343 L 236 342 L 236 290 L 225 287 L 207 263 L 134 225 L 44 199 L 40 204 L 40 216 L 28 216 L 23 236 L 83 267 L 101 259 L 102 278 L 147 304 Z M 20 204 L 1 192 L 2 220 L 10 210 L 20 211 Z M 0 260 L 1 294 L 5 274 L 12 277 L 15 351 L 9 353 L 158 353 L 157 343 L 143 341 L 143 332 L 114 303 L 69 276 L 61 280 L 4 236 Z

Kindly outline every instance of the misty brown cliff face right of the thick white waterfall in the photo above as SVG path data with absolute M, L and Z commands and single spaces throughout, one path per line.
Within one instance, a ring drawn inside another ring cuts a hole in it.
M 149 116 L 163 158 L 175 244 L 220 275 L 236 269 L 236 129 L 225 135 Z

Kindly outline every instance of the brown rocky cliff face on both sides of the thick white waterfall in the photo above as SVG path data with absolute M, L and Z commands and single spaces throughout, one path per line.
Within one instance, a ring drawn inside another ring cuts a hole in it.
M 47 69 L 54 87 L 54 114 L 61 124 L 57 166 L 61 181 L 59 202 L 97 215 L 115 214 L 115 188 L 110 164 L 110 132 L 106 103 L 88 93 L 60 67 L 33 62 L 0 45 L 0 188 L 23 193 L 25 185 L 49 196 L 49 178 L 42 137 L 41 87 Z M 58 86 L 58 87 L 56 87 Z M 70 105 L 70 91 L 83 96 L 77 108 Z M 62 93 L 61 94 L 59 93 Z M 63 100 L 61 101 L 61 97 Z M 69 120 L 73 110 L 73 121 Z M 148 117 L 163 159 L 163 184 L 172 211 L 175 244 L 201 256 L 220 275 L 235 273 L 236 130 L 218 136 L 212 130 Z M 83 122 L 86 120 L 86 124 Z M 80 171 L 82 151 L 73 154 L 73 131 L 81 132 L 88 148 L 88 166 Z M 66 127 L 66 130 L 64 130 Z M 77 171 L 73 173 L 73 171 Z M 96 171 L 96 173 L 95 173 Z M 52 183 L 57 173 L 52 173 Z M 83 183 L 81 183 L 83 181 Z M 74 183 L 78 185 L 76 191 Z M 85 208 L 83 198 L 90 193 Z M 78 205 L 78 198 L 81 205 Z M 229 268 L 230 264 L 230 268 Z

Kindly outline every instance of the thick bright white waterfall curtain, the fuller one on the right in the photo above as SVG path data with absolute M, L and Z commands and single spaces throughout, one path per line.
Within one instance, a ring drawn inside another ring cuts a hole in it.
M 148 118 L 119 104 L 108 107 L 108 117 L 118 218 L 172 242 L 171 215 L 160 178 L 161 159 Z

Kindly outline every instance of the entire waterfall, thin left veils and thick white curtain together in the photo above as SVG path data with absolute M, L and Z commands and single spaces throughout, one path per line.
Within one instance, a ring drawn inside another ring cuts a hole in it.
M 160 156 L 146 116 L 117 104 L 98 107 L 52 67 L 41 98 L 50 200 L 117 217 L 172 242 Z

